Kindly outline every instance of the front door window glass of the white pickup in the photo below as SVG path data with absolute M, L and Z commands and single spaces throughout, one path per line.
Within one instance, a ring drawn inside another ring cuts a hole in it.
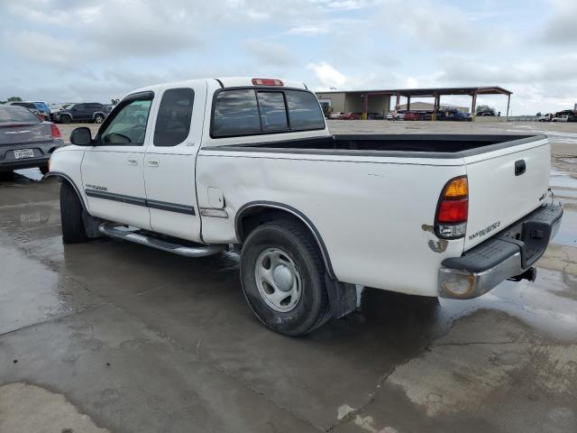
M 134 100 L 123 106 L 106 125 L 100 143 L 113 146 L 142 146 L 151 99 Z

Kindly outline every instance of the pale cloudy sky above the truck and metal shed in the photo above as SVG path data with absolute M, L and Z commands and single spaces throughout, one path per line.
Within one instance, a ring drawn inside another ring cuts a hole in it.
M 513 115 L 577 103 L 577 0 L 0 0 L 0 32 L 0 100 L 107 102 L 242 75 L 315 89 L 498 85 L 514 92 Z M 505 97 L 479 102 L 505 111 Z

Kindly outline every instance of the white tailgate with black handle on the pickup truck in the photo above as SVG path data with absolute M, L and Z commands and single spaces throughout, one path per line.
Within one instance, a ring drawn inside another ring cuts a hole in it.
M 463 158 L 469 178 L 465 251 L 545 203 L 551 171 L 546 137 L 512 144 Z

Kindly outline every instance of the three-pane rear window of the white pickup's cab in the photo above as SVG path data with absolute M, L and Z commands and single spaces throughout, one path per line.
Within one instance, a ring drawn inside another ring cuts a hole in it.
M 289 88 L 224 88 L 215 93 L 212 138 L 325 129 L 316 96 Z

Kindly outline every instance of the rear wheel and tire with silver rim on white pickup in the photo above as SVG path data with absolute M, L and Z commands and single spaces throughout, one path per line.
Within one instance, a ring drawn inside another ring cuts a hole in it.
M 287 280 L 289 273 L 292 279 Z M 272 284 L 263 281 L 264 274 Z M 252 231 L 243 244 L 241 281 L 254 314 L 279 334 L 304 336 L 330 318 L 325 264 L 306 227 L 296 221 L 272 221 Z M 285 293 L 288 298 L 271 300 Z

